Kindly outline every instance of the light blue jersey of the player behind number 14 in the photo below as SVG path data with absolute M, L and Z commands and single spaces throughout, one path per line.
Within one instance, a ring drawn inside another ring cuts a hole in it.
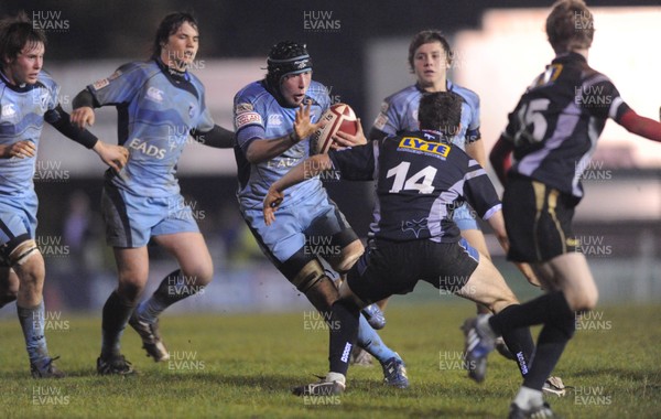
M 447 90 L 456 93 L 464 99 L 462 104 L 462 129 L 453 137 L 452 142 L 466 149 L 466 143 L 480 139 L 479 133 L 479 96 L 467 88 L 447 80 Z M 381 111 L 375 120 L 373 128 L 388 136 L 395 136 L 402 131 L 416 131 L 418 108 L 420 98 L 424 94 L 418 85 L 409 86 L 388 96 L 381 105 Z

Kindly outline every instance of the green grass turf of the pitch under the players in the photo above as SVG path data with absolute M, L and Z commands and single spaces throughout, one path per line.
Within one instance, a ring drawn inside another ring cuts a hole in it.
M 319 399 L 290 394 L 327 369 L 328 336 L 314 320 L 305 323 L 311 312 L 166 315 L 161 330 L 177 359 L 161 364 L 144 356 L 129 329 L 122 351 L 140 370 L 131 377 L 97 376 L 100 319 L 65 312 L 47 330 L 51 353 L 68 374 L 61 380 L 30 378 L 19 323 L 6 318 L 0 418 L 503 418 L 520 384 L 514 364 L 490 355 L 487 379 L 477 385 L 457 359 L 458 326 L 473 312 L 452 299 L 395 299 L 381 335 L 407 362 L 411 388 L 383 387 L 378 365 L 354 367 L 345 394 Z M 584 320 L 554 373 L 575 387 L 549 398 L 556 413 L 661 417 L 660 313 L 660 305 L 605 305 Z

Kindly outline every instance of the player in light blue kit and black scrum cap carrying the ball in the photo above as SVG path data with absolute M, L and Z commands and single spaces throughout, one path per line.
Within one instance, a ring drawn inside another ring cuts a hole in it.
M 330 98 L 324 85 L 312 80 L 312 60 L 305 45 L 280 42 L 267 63 L 266 78 L 235 96 L 239 206 L 262 251 L 327 319 L 337 289 L 318 258 L 345 273 L 364 253 L 358 236 L 328 198 L 318 176 L 286 192 L 288 204 L 271 227 L 264 224 L 261 208 L 271 184 L 310 155 L 308 137 Z M 364 136 L 360 138 L 365 141 Z M 346 141 L 354 139 L 337 141 L 349 146 L 351 142 Z M 318 246 L 310 246 L 315 240 L 328 246 L 318 251 Z M 386 384 L 408 387 L 402 359 L 362 315 L 359 330 L 358 344 L 381 363 Z

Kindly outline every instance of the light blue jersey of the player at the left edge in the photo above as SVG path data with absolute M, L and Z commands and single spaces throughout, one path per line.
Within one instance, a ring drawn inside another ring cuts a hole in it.
M 13 86 L 0 73 L 0 144 L 32 141 L 39 150 L 44 120 L 57 122 L 59 86 L 41 71 L 33 85 Z M 0 159 L 0 194 L 23 196 L 34 191 L 36 155 L 23 159 Z

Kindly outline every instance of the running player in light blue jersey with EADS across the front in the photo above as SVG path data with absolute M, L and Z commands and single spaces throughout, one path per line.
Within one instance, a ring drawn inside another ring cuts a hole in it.
M 99 374 L 133 372 L 120 353 L 127 322 L 140 334 L 149 356 L 169 359 L 159 315 L 199 292 L 214 275 L 206 243 L 175 178 L 189 136 L 210 147 L 234 143 L 234 133 L 214 123 L 204 86 L 187 71 L 198 42 L 195 18 L 171 13 L 156 31 L 150 60 L 122 65 L 74 99 L 72 120 L 82 127 L 94 123 L 94 108 L 117 107 L 119 143 L 130 152 L 119 174 L 106 173 L 102 194 L 107 243 L 115 250 L 119 284 L 104 307 Z M 149 277 L 150 239 L 173 255 L 180 269 L 137 307 Z

